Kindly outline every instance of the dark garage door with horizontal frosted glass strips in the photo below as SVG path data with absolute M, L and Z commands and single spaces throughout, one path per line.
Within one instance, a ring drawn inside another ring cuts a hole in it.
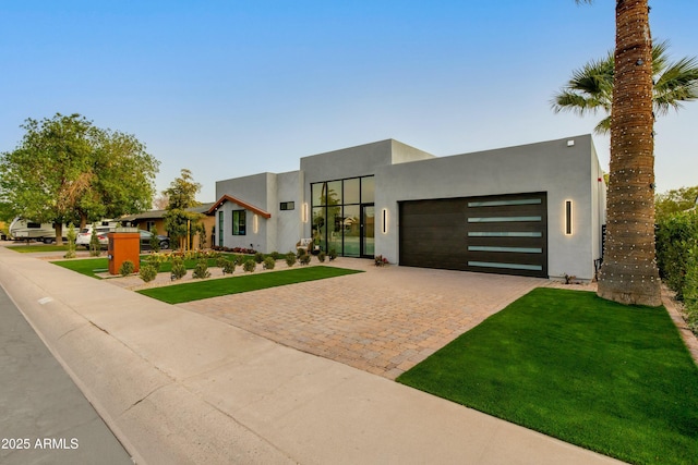
M 399 204 L 400 265 L 547 278 L 545 193 Z

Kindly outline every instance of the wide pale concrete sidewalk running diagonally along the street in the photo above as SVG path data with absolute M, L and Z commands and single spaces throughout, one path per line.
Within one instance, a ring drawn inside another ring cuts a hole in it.
M 4 247 L 0 283 L 137 463 L 617 463 Z

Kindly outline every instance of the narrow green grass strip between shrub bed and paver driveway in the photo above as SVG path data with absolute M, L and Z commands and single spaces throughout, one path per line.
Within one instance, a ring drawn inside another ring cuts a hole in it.
M 361 271 L 313 266 L 284 271 L 189 282 L 164 287 L 146 289 L 137 292 L 168 304 L 181 304 L 184 302 L 200 301 L 202 298 L 219 297 L 221 295 L 238 294 L 241 292 L 257 291 L 261 289 L 336 278 L 359 272 Z

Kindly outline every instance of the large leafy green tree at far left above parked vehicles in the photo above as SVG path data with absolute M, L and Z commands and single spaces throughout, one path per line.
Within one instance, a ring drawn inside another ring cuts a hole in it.
M 80 114 L 27 119 L 17 148 L 0 156 L 4 215 L 56 225 L 149 208 L 159 162 L 134 136 L 101 130 Z

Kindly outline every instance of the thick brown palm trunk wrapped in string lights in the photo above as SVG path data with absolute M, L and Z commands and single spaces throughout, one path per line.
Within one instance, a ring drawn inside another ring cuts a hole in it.
M 648 0 L 616 1 L 606 241 L 599 296 L 661 305 L 654 255 L 654 114 Z

